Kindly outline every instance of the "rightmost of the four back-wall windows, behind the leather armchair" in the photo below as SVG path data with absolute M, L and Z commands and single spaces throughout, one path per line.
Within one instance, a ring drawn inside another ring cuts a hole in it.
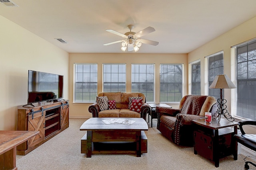
M 160 102 L 180 102 L 183 64 L 160 64 Z

